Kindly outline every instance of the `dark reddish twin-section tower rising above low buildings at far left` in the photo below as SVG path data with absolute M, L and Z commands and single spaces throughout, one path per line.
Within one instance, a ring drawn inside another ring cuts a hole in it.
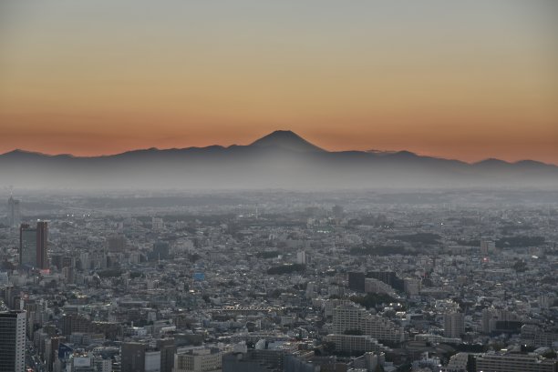
M 47 241 L 47 222 L 37 222 L 36 227 L 22 224 L 19 227 L 19 265 L 48 268 Z

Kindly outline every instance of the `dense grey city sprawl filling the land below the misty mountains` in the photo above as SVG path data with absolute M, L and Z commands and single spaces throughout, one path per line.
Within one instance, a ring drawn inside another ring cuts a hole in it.
M 555 372 L 557 196 L 14 192 L 0 369 Z

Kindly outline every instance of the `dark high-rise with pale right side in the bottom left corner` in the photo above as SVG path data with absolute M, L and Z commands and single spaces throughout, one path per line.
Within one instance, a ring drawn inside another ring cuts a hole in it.
M 0 372 L 26 368 L 26 312 L 0 312 Z

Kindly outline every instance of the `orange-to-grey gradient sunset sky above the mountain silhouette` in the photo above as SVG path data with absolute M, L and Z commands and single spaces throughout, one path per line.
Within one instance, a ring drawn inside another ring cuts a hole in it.
M 0 153 L 248 144 L 558 164 L 555 0 L 2 0 Z

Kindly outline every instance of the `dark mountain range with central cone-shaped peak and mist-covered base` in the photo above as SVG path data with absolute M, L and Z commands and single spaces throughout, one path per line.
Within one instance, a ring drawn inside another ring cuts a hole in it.
M 408 151 L 326 151 L 291 131 L 248 146 L 129 151 L 113 156 L 0 155 L 0 186 L 25 188 L 366 189 L 558 187 L 558 166 L 532 160 L 475 164 Z

